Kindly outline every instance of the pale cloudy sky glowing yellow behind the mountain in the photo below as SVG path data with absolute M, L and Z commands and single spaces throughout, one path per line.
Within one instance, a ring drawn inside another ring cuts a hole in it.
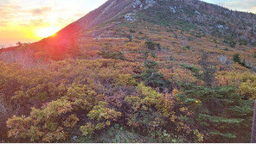
M 256 0 L 203 0 L 256 13 Z M 106 0 L 0 0 L 0 47 L 39 41 L 98 8 Z

